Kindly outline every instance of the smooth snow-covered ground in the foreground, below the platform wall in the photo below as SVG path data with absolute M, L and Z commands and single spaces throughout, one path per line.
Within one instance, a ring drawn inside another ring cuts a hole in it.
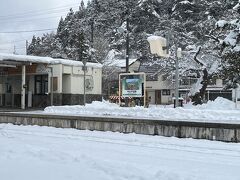
M 2 180 L 239 180 L 240 144 L 0 124 Z

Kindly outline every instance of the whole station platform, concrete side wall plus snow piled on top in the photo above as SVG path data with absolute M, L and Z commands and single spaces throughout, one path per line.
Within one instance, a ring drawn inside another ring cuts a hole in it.
M 107 101 L 51 106 L 44 111 L 1 112 L 0 123 L 240 142 L 240 110 L 224 98 L 183 108 L 128 108 Z

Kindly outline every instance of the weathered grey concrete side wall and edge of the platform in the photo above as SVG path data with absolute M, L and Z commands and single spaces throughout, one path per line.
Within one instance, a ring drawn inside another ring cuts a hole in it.
M 146 118 L 0 113 L 0 123 L 240 142 L 240 124 Z

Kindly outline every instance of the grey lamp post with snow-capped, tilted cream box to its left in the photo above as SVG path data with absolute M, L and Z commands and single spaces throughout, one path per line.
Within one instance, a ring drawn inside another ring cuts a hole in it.
M 150 44 L 150 50 L 152 54 L 157 54 L 160 57 L 169 57 L 169 42 L 166 38 L 161 36 L 150 36 L 148 37 L 148 42 Z M 175 41 L 175 106 L 179 106 L 179 62 L 178 58 L 181 57 L 181 48 L 177 47 L 177 42 Z

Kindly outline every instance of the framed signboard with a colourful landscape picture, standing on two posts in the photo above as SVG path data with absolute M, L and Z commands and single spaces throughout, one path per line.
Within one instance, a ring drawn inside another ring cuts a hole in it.
M 119 74 L 119 104 L 121 98 L 143 97 L 146 107 L 146 75 L 145 73 L 122 73 Z

